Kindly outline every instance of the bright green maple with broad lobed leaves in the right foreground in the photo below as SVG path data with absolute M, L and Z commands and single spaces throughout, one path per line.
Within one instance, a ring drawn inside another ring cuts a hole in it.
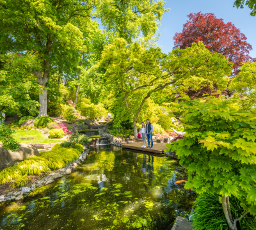
M 227 225 L 237 230 L 247 213 L 256 215 L 256 114 L 239 111 L 239 98 L 180 100 L 186 138 L 167 144 L 167 151 L 176 151 L 188 170 L 185 188 L 221 195 Z M 245 210 L 239 218 L 232 216 L 230 197 Z

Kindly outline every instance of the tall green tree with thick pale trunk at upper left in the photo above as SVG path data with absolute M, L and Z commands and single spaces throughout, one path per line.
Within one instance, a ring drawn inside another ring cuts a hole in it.
M 36 50 L 40 56 L 42 68 L 36 70 L 36 79 L 44 90 L 39 95 L 39 116 L 47 116 L 45 84 L 51 66 L 60 58 L 56 54 L 65 55 L 67 50 L 81 48 L 83 33 L 79 26 L 90 24 L 95 3 L 93 0 L 0 1 L 1 40 L 4 36 L 12 38 L 6 43 L 9 45 L 6 50 Z

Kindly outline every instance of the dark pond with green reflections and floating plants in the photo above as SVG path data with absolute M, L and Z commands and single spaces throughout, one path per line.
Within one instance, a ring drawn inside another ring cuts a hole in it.
M 177 160 L 115 146 L 91 148 L 74 173 L 0 204 L 0 229 L 169 229 L 175 210 L 191 210 Z

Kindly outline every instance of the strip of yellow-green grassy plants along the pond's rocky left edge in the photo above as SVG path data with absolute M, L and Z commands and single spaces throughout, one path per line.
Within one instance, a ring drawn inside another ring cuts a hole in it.
M 0 172 L 0 184 L 15 180 L 13 183 L 15 186 L 24 185 L 29 180 L 27 176 L 61 169 L 76 160 L 81 151 L 83 151 L 81 144 L 75 144 L 73 148 L 63 148 L 60 144 L 56 144 L 51 151 L 45 151 L 40 157 L 29 157 L 19 164 L 3 169 Z

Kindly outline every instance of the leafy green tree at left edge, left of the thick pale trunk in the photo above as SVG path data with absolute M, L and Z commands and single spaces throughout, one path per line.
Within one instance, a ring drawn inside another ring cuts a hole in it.
M 0 69 L 0 112 L 28 111 L 36 115 L 39 104 L 31 96 L 40 94 L 35 79 L 35 71 L 40 68 L 38 55 L 10 53 L 0 55 L 0 61 L 4 63 Z

